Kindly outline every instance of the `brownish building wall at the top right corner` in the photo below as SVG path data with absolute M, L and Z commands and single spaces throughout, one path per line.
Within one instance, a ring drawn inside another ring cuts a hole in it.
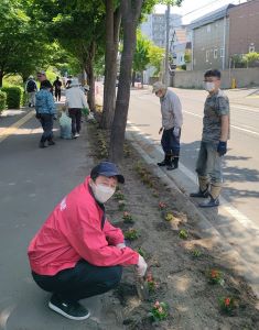
M 259 52 L 259 0 L 230 8 L 229 19 L 229 56 Z

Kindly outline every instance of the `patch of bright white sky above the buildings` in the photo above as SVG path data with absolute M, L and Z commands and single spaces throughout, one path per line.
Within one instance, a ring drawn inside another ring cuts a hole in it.
M 242 3 L 246 0 L 183 0 L 182 7 L 171 7 L 171 13 L 177 13 L 183 15 L 183 24 L 188 24 L 191 21 L 205 15 L 208 12 L 212 12 L 225 4 L 228 3 Z M 165 6 L 158 4 L 155 6 L 157 13 L 163 13 L 165 11 Z M 190 13 L 193 11 L 192 13 Z M 188 14 L 190 13 L 190 14 Z

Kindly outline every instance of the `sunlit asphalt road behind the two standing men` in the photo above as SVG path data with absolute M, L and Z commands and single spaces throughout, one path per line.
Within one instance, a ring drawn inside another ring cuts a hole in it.
M 188 196 L 197 189 L 195 162 L 202 135 L 203 105 L 206 92 L 203 90 L 174 89 L 179 95 L 184 124 L 180 168 L 168 173 L 181 190 Z M 251 275 L 253 289 L 259 294 L 258 238 L 259 235 L 259 102 L 258 98 L 246 99 L 248 91 L 227 91 L 230 99 L 230 141 L 224 160 L 224 186 L 220 207 L 202 210 L 213 228 L 237 253 L 237 268 L 247 277 Z M 159 129 L 161 113 L 159 99 L 151 89 L 132 90 L 129 110 L 129 129 L 138 132 L 155 148 L 159 160 L 163 158 Z M 148 139 L 148 140 L 147 140 Z M 149 150 L 149 147 L 147 147 Z M 166 170 L 165 170 L 166 172 Z M 197 204 L 197 199 L 193 199 Z M 245 266 L 238 266 L 238 261 Z M 249 275 L 250 274 L 250 275 Z

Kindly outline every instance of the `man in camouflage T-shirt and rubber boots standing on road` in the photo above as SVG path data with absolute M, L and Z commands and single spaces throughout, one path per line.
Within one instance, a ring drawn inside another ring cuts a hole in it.
M 204 75 L 205 89 L 208 91 L 204 105 L 203 134 L 196 163 L 199 190 L 191 197 L 209 198 L 199 204 L 202 208 L 217 207 L 222 190 L 222 162 L 227 152 L 229 139 L 229 101 L 220 90 L 220 72 L 207 70 Z

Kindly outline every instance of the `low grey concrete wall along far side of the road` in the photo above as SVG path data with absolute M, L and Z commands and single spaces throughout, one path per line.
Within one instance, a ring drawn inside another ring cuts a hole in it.
M 203 88 L 205 70 L 175 72 L 173 86 L 182 88 Z M 222 72 L 222 87 L 230 88 L 235 78 L 237 87 L 259 86 L 259 68 L 236 68 Z M 172 86 L 172 85 L 171 85 Z

